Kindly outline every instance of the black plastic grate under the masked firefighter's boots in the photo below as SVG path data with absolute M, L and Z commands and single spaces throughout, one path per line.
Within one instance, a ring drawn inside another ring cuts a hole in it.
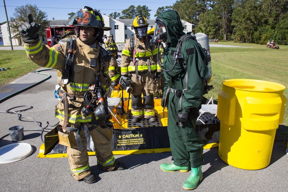
M 154 110 L 154 112 L 155 112 L 154 117 L 155 117 L 155 119 L 156 119 L 155 122 L 150 122 L 150 121 L 148 121 L 147 119 L 145 119 L 144 117 L 142 117 L 139 122 L 133 123 L 133 122 L 132 122 L 132 118 L 133 118 L 133 117 L 132 117 L 132 113 L 131 113 L 131 110 L 129 109 L 129 112 L 128 112 L 128 125 L 127 125 L 127 127 L 128 127 L 128 128 L 133 128 L 133 127 L 161 127 L 162 124 L 161 124 L 160 121 L 159 121 L 157 112 L 156 112 L 155 110 Z

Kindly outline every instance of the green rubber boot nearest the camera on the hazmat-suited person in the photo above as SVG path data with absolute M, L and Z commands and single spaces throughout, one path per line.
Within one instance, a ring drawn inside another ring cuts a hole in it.
M 203 179 L 202 165 L 197 168 L 191 168 L 191 175 L 183 183 L 183 188 L 192 190 L 195 189 L 198 185 L 198 182 Z

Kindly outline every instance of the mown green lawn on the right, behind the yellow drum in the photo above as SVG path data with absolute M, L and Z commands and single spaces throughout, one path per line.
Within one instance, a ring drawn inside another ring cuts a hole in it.
M 217 99 L 218 92 L 222 89 L 221 82 L 227 79 L 258 79 L 280 83 L 285 85 L 284 96 L 288 98 L 288 46 L 281 45 L 276 50 L 267 48 L 266 45 L 249 43 L 221 44 L 243 47 L 210 47 L 212 81 L 209 85 L 213 85 L 214 89 L 205 95 L 206 98 L 213 96 Z M 288 137 L 287 108 L 286 102 L 283 126 L 280 126 L 285 138 Z

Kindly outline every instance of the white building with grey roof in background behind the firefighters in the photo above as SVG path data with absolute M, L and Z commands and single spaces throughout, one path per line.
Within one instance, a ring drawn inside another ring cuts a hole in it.
M 112 29 L 110 31 L 104 31 L 104 36 L 109 37 L 110 34 L 114 35 L 114 40 L 116 43 L 125 43 L 128 37 L 134 35 L 134 29 L 131 29 L 133 19 L 113 19 L 109 16 L 102 15 L 104 18 L 105 26 L 109 26 Z M 58 26 L 68 26 L 69 20 L 48 20 L 50 22 L 50 27 Z M 148 19 L 149 23 L 148 30 L 155 26 L 154 19 Z M 192 24 L 182 20 L 183 25 L 185 26 L 184 32 L 187 33 L 192 31 Z M 7 23 L 0 25 L 2 30 L 3 44 L 4 46 L 10 46 L 10 37 L 8 33 Z M 43 26 L 42 26 L 43 27 Z M 47 26 L 48 27 L 48 26 Z M 13 34 L 11 34 L 13 37 Z M 47 37 L 40 37 L 42 43 L 47 44 Z M 21 38 L 12 38 L 12 45 L 23 45 Z

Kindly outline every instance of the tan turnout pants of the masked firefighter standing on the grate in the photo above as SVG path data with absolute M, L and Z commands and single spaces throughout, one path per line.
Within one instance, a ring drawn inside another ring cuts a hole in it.
M 145 118 L 154 117 L 154 92 L 156 90 L 156 81 L 153 80 L 155 73 L 142 74 L 137 77 L 136 74 L 131 74 L 131 79 L 136 84 L 132 85 L 131 92 L 131 112 L 133 117 Z M 140 78 L 139 78 L 140 77 Z M 138 81 L 137 81 L 138 79 Z M 143 103 L 142 95 L 143 94 Z

